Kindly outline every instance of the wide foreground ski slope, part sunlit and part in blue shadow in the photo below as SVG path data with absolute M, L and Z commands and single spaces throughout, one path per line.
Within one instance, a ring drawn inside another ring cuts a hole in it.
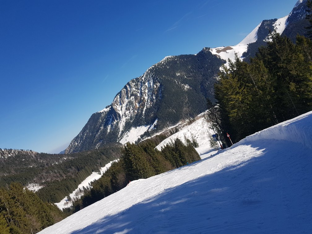
M 41 233 L 311 233 L 312 112 L 148 178 Z

